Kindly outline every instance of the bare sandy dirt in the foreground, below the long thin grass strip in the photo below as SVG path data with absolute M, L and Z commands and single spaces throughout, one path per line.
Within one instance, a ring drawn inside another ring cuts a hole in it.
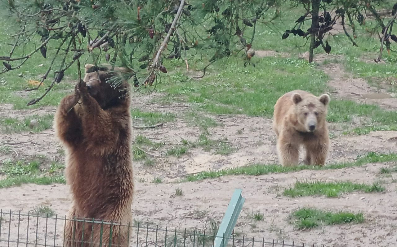
M 343 170 L 303 170 L 286 174 L 268 174 L 263 176 L 227 176 L 201 182 L 183 184 L 136 184 L 133 203 L 133 215 L 136 221 L 158 224 L 161 228 L 177 227 L 204 229 L 210 219 L 218 223 L 235 188 L 243 189 L 246 198 L 234 230 L 239 237 L 264 237 L 266 240 L 287 239 L 295 243 L 326 246 L 391 246 L 396 241 L 394 234 L 397 219 L 396 184 L 385 185 L 385 193 L 350 193 L 338 198 L 282 196 L 283 188 L 293 185 L 296 180 L 349 180 L 358 183 L 372 183 L 379 180 L 379 169 L 387 164 L 373 164 L 364 167 Z M 175 188 L 182 188 L 183 195 L 175 196 Z M 69 207 L 69 190 L 64 185 L 38 186 L 23 185 L 0 190 L 0 208 L 27 212 L 37 205 L 48 205 L 60 217 L 64 217 Z M 154 203 L 155 202 L 155 203 Z M 289 214 L 300 207 L 317 207 L 333 211 L 363 211 L 366 220 L 362 224 L 344 224 L 318 227 L 312 230 L 296 230 L 289 222 Z M 260 212 L 264 220 L 256 221 L 252 212 Z M 14 217 L 17 220 L 16 217 Z M 50 220 L 49 231 L 54 226 Z M 16 226 L 16 222 L 12 222 Z M 26 222 L 25 222 L 26 223 Z M 4 229 L 2 234 L 8 232 Z M 145 226 L 145 224 L 144 224 Z M 16 227 L 12 228 L 16 231 Z M 136 229 L 135 229 L 136 230 Z M 21 230 L 23 231 L 23 230 Z M 26 231 L 26 230 L 25 230 Z M 62 238 L 63 228 L 59 227 Z M 12 232 L 16 234 L 16 232 Z M 132 238 L 135 241 L 136 232 Z M 43 233 L 39 236 L 43 238 Z M 13 235 L 15 236 L 15 235 Z M 153 237 L 153 236 L 149 236 Z

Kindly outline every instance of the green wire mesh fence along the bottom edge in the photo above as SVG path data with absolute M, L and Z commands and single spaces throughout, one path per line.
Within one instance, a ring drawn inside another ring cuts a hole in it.
M 69 224 L 68 224 L 69 223 Z M 67 226 L 83 226 L 83 234 L 72 234 L 67 237 Z M 127 229 L 128 242 L 120 243 L 112 239 L 113 233 L 121 227 Z M 85 230 L 84 230 L 85 228 Z M 107 230 L 106 230 L 107 229 Z M 94 237 L 94 235 L 98 235 Z M 211 234 L 197 230 L 176 228 L 159 228 L 149 224 L 123 225 L 95 219 L 68 219 L 58 216 L 42 216 L 39 214 L 21 213 L 0 210 L 0 247 L 212 247 L 216 240 L 216 232 Z M 223 237 L 220 247 L 270 247 L 270 246 L 302 246 L 304 243 L 286 243 L 284 241 L 266 240 L 265 238 L 231 236 Z

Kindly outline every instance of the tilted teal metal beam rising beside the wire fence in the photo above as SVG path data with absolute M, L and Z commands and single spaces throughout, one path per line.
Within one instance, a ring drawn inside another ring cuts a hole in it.
M 213 247 L 225 247 L 229 242 L 231 233 L 236 225 L 237 218 L 239 218 L 241 209 L 245 202 L 245 198 L 241 196 L 243 190 L 236 189 L 231 197 L 229 206 L 227 207 L 225 216 L 219 226 L 216 234 Z

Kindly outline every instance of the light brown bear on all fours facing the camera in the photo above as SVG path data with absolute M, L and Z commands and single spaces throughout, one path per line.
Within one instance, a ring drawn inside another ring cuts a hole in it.
M 323 166 L 330 139 L 326 123 L 330 96 L 316 97 L 302 90 L 288 92 L 274 105 L 273 128 L 281 165 L 299 163 L 299 148 L 306 149 L 306 165 Z

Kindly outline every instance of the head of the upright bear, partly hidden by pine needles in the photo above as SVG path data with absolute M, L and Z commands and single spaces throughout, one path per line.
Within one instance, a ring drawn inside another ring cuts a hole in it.
M 99 103 L 102 109 L 129 102 L 129 84 L 123 73 L 130 72 L 128 69 L 85 65 L 84 82 L 88 93 Z

